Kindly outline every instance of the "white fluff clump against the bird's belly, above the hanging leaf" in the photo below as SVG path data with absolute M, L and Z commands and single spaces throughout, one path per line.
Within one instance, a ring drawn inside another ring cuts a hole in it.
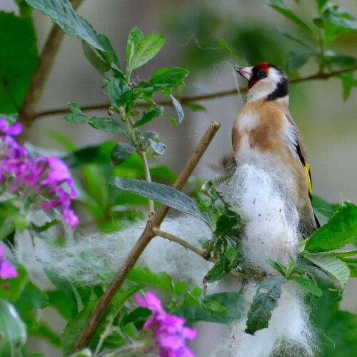
M 286 264 L 296 256 L 298 211 L 281 183 L 263 169 L 245 164 L 220 189 L 246 219 L 242 248 L 247 263 L 270 272 L 267 258 Z

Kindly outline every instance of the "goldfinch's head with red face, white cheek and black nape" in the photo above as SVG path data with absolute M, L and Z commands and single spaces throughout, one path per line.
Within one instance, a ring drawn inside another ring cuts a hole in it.
M 236 72 L 248 80 L 248 101 L 288 100 L 288 77 L 278 66 L 262 62 L 252 67 L 238 66 Z

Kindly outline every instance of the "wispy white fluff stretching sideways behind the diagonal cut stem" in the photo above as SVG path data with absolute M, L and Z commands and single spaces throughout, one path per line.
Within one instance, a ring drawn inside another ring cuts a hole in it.
M 34 238 L 34 246 L 29 234 L 18 236 L 16 256 L 24 263 L 31 279 L 42 288 L 49 287 L 43 265 L 54 269 L 74 284 L 86 286 L 101 283 L 96 266 L 109 263 L 116 271 L 124 263 L 146 222 L 139 221 L 116 233 L 97 233 L 77 237 L 63 247 L 54 248 L 44 239 Z M 161 229 L 183 238 L 198 248 L 211 238 L 211 230 L 206 223 L 191 216 L 166 218 Z M 94 258 L 88 258 L 95 253 Z M 155 273 L 168 273 L 174 278 L 201 285 L 203 277 L 212 263 L 205 261 L 192 251 L 161 237 L 154 238 L 139 259 L 140 266 L 147 266 Z

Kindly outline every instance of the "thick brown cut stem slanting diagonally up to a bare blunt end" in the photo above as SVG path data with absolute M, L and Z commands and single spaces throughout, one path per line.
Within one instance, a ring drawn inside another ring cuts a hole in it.
M 199 142 L 196 150 L 193 152 L 193 154 L 191 154 L 188 161 L 186 161 L 186 164 L 185 166 L 183 166 L 181 174 L 178 175 L 178 178 L 174 183 L 175 188 L 181 190 L 186 184 L 188 178 L 191 176 L 193 170 L 196 168 L 198 161 L 201 160 L 201 157 L 203 156 L 204 152 L 208 148 L 209 144 L 211 144 L 211 141 L 216 135 L 216 132 L 218 131 L 220 126 L 221 124 L 219 124 L 217 121 L 213 121 L 207 129 L 206 133 L 203 134 L 202 139 Z M 164 221 L 164 218 L 166 217 L 168 211 L 168 206 L 161 206 L 156 211 L 154 216 L 152 216 L 152 218 L 147 221 L 144 231 L 143 233 L 141 233 L 139 240 L 136 241 L 134 247 L 131 249 L 129 255 L 126 258 L 124 265 L 119 268 L 118 272 L 116 273 L 116 276 L 109 284 L 109 287 L 106 289 L 103 296 L 101 296 L 101 299 L 98 305 L 96 306 L 94 313 L 89 318 L 89 321 L 87 321 L 84 331 L 81 333 L 81 336 L 79 337 L 79 340 L 76 343 L 75 351 L 80 351 L 81 349 L 89 345 L 89 342 L 94 336 L 94 333 L 96 332 L 96 329 L 98 328 L 99 323 L 101 322 L 104 316 L 104 313 L 106 313 L 106 310 L 107 308 L 109 308 L 111 301 L 113 300 L 114 296 L 116 296 L 116 293 L 119 291 L 119 288 L 121 288 L 121 285 L 124 283 L 124 280 L 126 279 L 126 276 L 128 276 L 129 271 L 131 271 L 131 268 L 133 268 L 136 261 L 138 261 L 139 257 L 141 256 L 141 253 L 143 253 L 144 249 L 149 244 L 151 239 L 154 238 L 155 233 L 153 229 L 160 228 L 161 223 L 162 221 Z

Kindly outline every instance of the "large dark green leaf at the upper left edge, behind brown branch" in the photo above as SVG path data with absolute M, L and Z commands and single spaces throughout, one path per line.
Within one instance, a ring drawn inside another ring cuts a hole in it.
M 32 19 L 0 12 L 0 113 L 19 111 L 39 58 Z

